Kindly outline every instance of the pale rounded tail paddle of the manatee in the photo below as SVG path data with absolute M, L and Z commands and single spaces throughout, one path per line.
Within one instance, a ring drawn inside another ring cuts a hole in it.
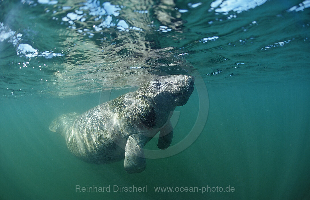
M 60 115 L 50 124 L 50 130 L 65 136 L 68 128 L 78 118 L 79 114 L 76 112 Z

